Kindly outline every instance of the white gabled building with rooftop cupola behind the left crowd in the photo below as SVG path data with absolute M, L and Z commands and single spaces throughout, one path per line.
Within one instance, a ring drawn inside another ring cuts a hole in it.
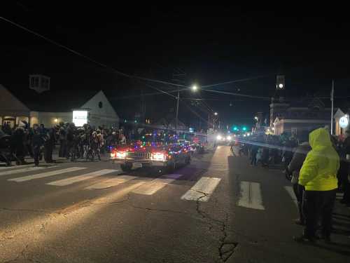
M 73 121 L 73 109 L 87 109 L 92 126 L 118 127 L 119 117 L 102 90 L 50 90 L 50 79 L 29 76 L 29 88 L 11 90 L 0 84 L 0 125 L 20 121 L 54 126 Z

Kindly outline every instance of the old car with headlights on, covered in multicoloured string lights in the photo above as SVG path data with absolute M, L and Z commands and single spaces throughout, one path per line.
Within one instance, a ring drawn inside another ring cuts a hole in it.
M 151 134 L 142 136 L 142 139 L 111 150 L 111 160 L 120 163 L 124 172 L 137 166 L 155 167 L 172 173 L 176 167 L 190 163 L 190 146 L 177 142 L 175 137 L 165 140 Z

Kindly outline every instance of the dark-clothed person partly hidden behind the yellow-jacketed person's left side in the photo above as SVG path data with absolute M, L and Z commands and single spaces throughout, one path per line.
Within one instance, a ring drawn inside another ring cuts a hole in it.
M 286 173 L 292 175 L 292 184 L 295 197 L 297 198 L 297 210 L 299 212 L 299 218 L 295 220 L 295 224 L 304 224 L 304 215 L 302 215 L 302 195 L 304 194 L 304 187 L 298 184 L 300 169 L 302 168 L 302 163 L 307 156 L 307 153 L 311 150 L 309 142 L 302 142 L 293 154 L 292 161 L 290 161 Z

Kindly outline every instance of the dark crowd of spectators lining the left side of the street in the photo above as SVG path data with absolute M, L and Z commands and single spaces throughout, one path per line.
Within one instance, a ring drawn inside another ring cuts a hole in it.
M 17 165 L 26 164 L 26 156 L 34 158 L 36 166 L 43 158 L 46 163 L 54 163 L 52 151 L 56 146 L 59 147 L 58 156 L 71 161 L 81 158 L 100 160 L 101 153 L 116 144 L 125 144 L 127 136 L 132 137 L 132 133 L 125 135 L 123 128 L 94 128 L 87 124 L 77 128 L 73 123 L 59 123 L 46 128 L 43 124 L 30 127 L 26 121 L 20 121 L 13 128 L 4 123 L 0 130 L 10 135 L 10 152 L 6 162 L 15 159 Z

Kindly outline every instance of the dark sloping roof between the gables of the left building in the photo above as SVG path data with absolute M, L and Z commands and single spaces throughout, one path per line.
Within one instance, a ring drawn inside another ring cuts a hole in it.
M 37 93 L 35 90 L 25 88 L 10 91 L 15 97 L 24 103 L 31 111 L 35 112 L 71 112 L 80 108 L 99 90 L 48 90 Z

